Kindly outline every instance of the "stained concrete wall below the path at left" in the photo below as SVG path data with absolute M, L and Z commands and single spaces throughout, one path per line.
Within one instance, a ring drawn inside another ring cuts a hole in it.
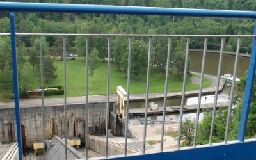
M 109 108 L 113 104 L 109 103 Z M 24 147 L 32 147 L 33 141 L 43 139 L 41 107 L 20 108 L 22 141 Z M 106 129 L 106 103 L 90 103 L 88 107 L 88 127 L 90 134 L 104 134 Z M 64 138 L 63 106 L 45 107 L 45 138 L 52 135 Z M 77 136 L 84 142 L 85 104 L 67 106 L 67 136 Z M 0 109 L 0 141 L 16 141 L 16 123 L 14 108 Z

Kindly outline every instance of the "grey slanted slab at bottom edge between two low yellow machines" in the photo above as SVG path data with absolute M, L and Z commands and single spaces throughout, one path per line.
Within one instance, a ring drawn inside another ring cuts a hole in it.
M 65 159 L 65 141 L 61 140 L 58 136 L 53 136 L 52 143 L 54 145 L 46 152 L 47 159 Z M 85 156 L 67 144 L 67 159 L 85 159 Z

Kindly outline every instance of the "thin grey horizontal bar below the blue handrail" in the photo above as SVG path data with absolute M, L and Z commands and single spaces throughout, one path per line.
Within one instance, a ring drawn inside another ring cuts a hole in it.
M 9 34 L 9 33 L 3 33 Z M 10 35 L 10 34 L 9 34 Z M 90 34 L 90 33 L 16 33 L 17 36 L 145 36 L 145 37 L 154 37 L 154 36 L 163 36 L 163 37 L 239 37 L 239 38 L 252 38 L 256 35 L 144 35 L 144 34 Z

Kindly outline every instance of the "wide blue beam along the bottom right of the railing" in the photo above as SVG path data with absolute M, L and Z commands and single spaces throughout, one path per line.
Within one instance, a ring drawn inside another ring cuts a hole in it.
M 143 154 L 138 156 L 116 157 L 113 160 L 148 160 L 148 159 L 179 159 L 179 160 L 205 160 L 205 159 L 256 159 L 256 141 L 235 143 L 228 145 L 218 145 L 211 147 L 193 148 L 186 150 L 176 150 L 173 152 L 159 152 L 154 154 Z

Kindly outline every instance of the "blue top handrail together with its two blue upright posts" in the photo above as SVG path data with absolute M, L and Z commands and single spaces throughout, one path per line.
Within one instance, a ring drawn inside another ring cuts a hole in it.
M 104 14 L 128 14 L 128 15 L 177 15 L 177 16 L 196 16 L 196 17 L 238 17 L 238 18 L 256 18 L 256 12 L 250 11 L 231 11 L 231 10 L 195 10 L 180 8 L 147 8 L 133 6 L 97 6 L 97 5 L 79 5 L 79 4 L 46 4 L 46 3 L 10 3 L 1 2 L 0 10 L 10 11 L 10 26 L 12 38 L 12 65 L 13 65 L 13 84 L 15 95 L 15 114 L 17 124 L 17 141 L 19 144 L 19 159 L 22 159 L 22 136 L 19 108 L 19 81 L 17 76 L 17 54 L 15 39 L 15 12 L 71 12 L 71 13 L 104 13 Z M 254 31 L 256 35 L 256 27 Z M 251 94 L 256 68 L 256 38 L 253 37 L 252 52 L 248 68 L 248 77 L 246 81 L 246 90 L 244 95 L 243 110 L 241 115 L 238 140 L 244 141 L 248 113 L 250 109 Z M 88 100 L 86 100 L 88 102 Z M 86 116 L 87 117 L 87 116 Z M 251 143 L 250 143 L 251 144 Z M 249 145 L 248 145 L 249 146 Z M 252 145 L 255 147 L 255 143 Z M 221 147 L 220 147 L 221 148 Z M 232 148 L 232 147 L 231 147 Z M 241 148 L 238 146 L 238 148 Z M 144 151 L 143 151 L 144 152 Z M 179 151 L 182 152 L 182 151 Z M 175 154 L 179 154 L 176 152 Z M 190 151 L 188 151 L 190 152 Z M 193 152 L 193 151 L 191 151 Z M 196 150 L 194 151 L 196 154 Z M 159 153 L 157 155 L 163 156 Z M 154 156 L 153 156 L 154 157 Z M 157 156 L 156 156 L 157 157 Z

